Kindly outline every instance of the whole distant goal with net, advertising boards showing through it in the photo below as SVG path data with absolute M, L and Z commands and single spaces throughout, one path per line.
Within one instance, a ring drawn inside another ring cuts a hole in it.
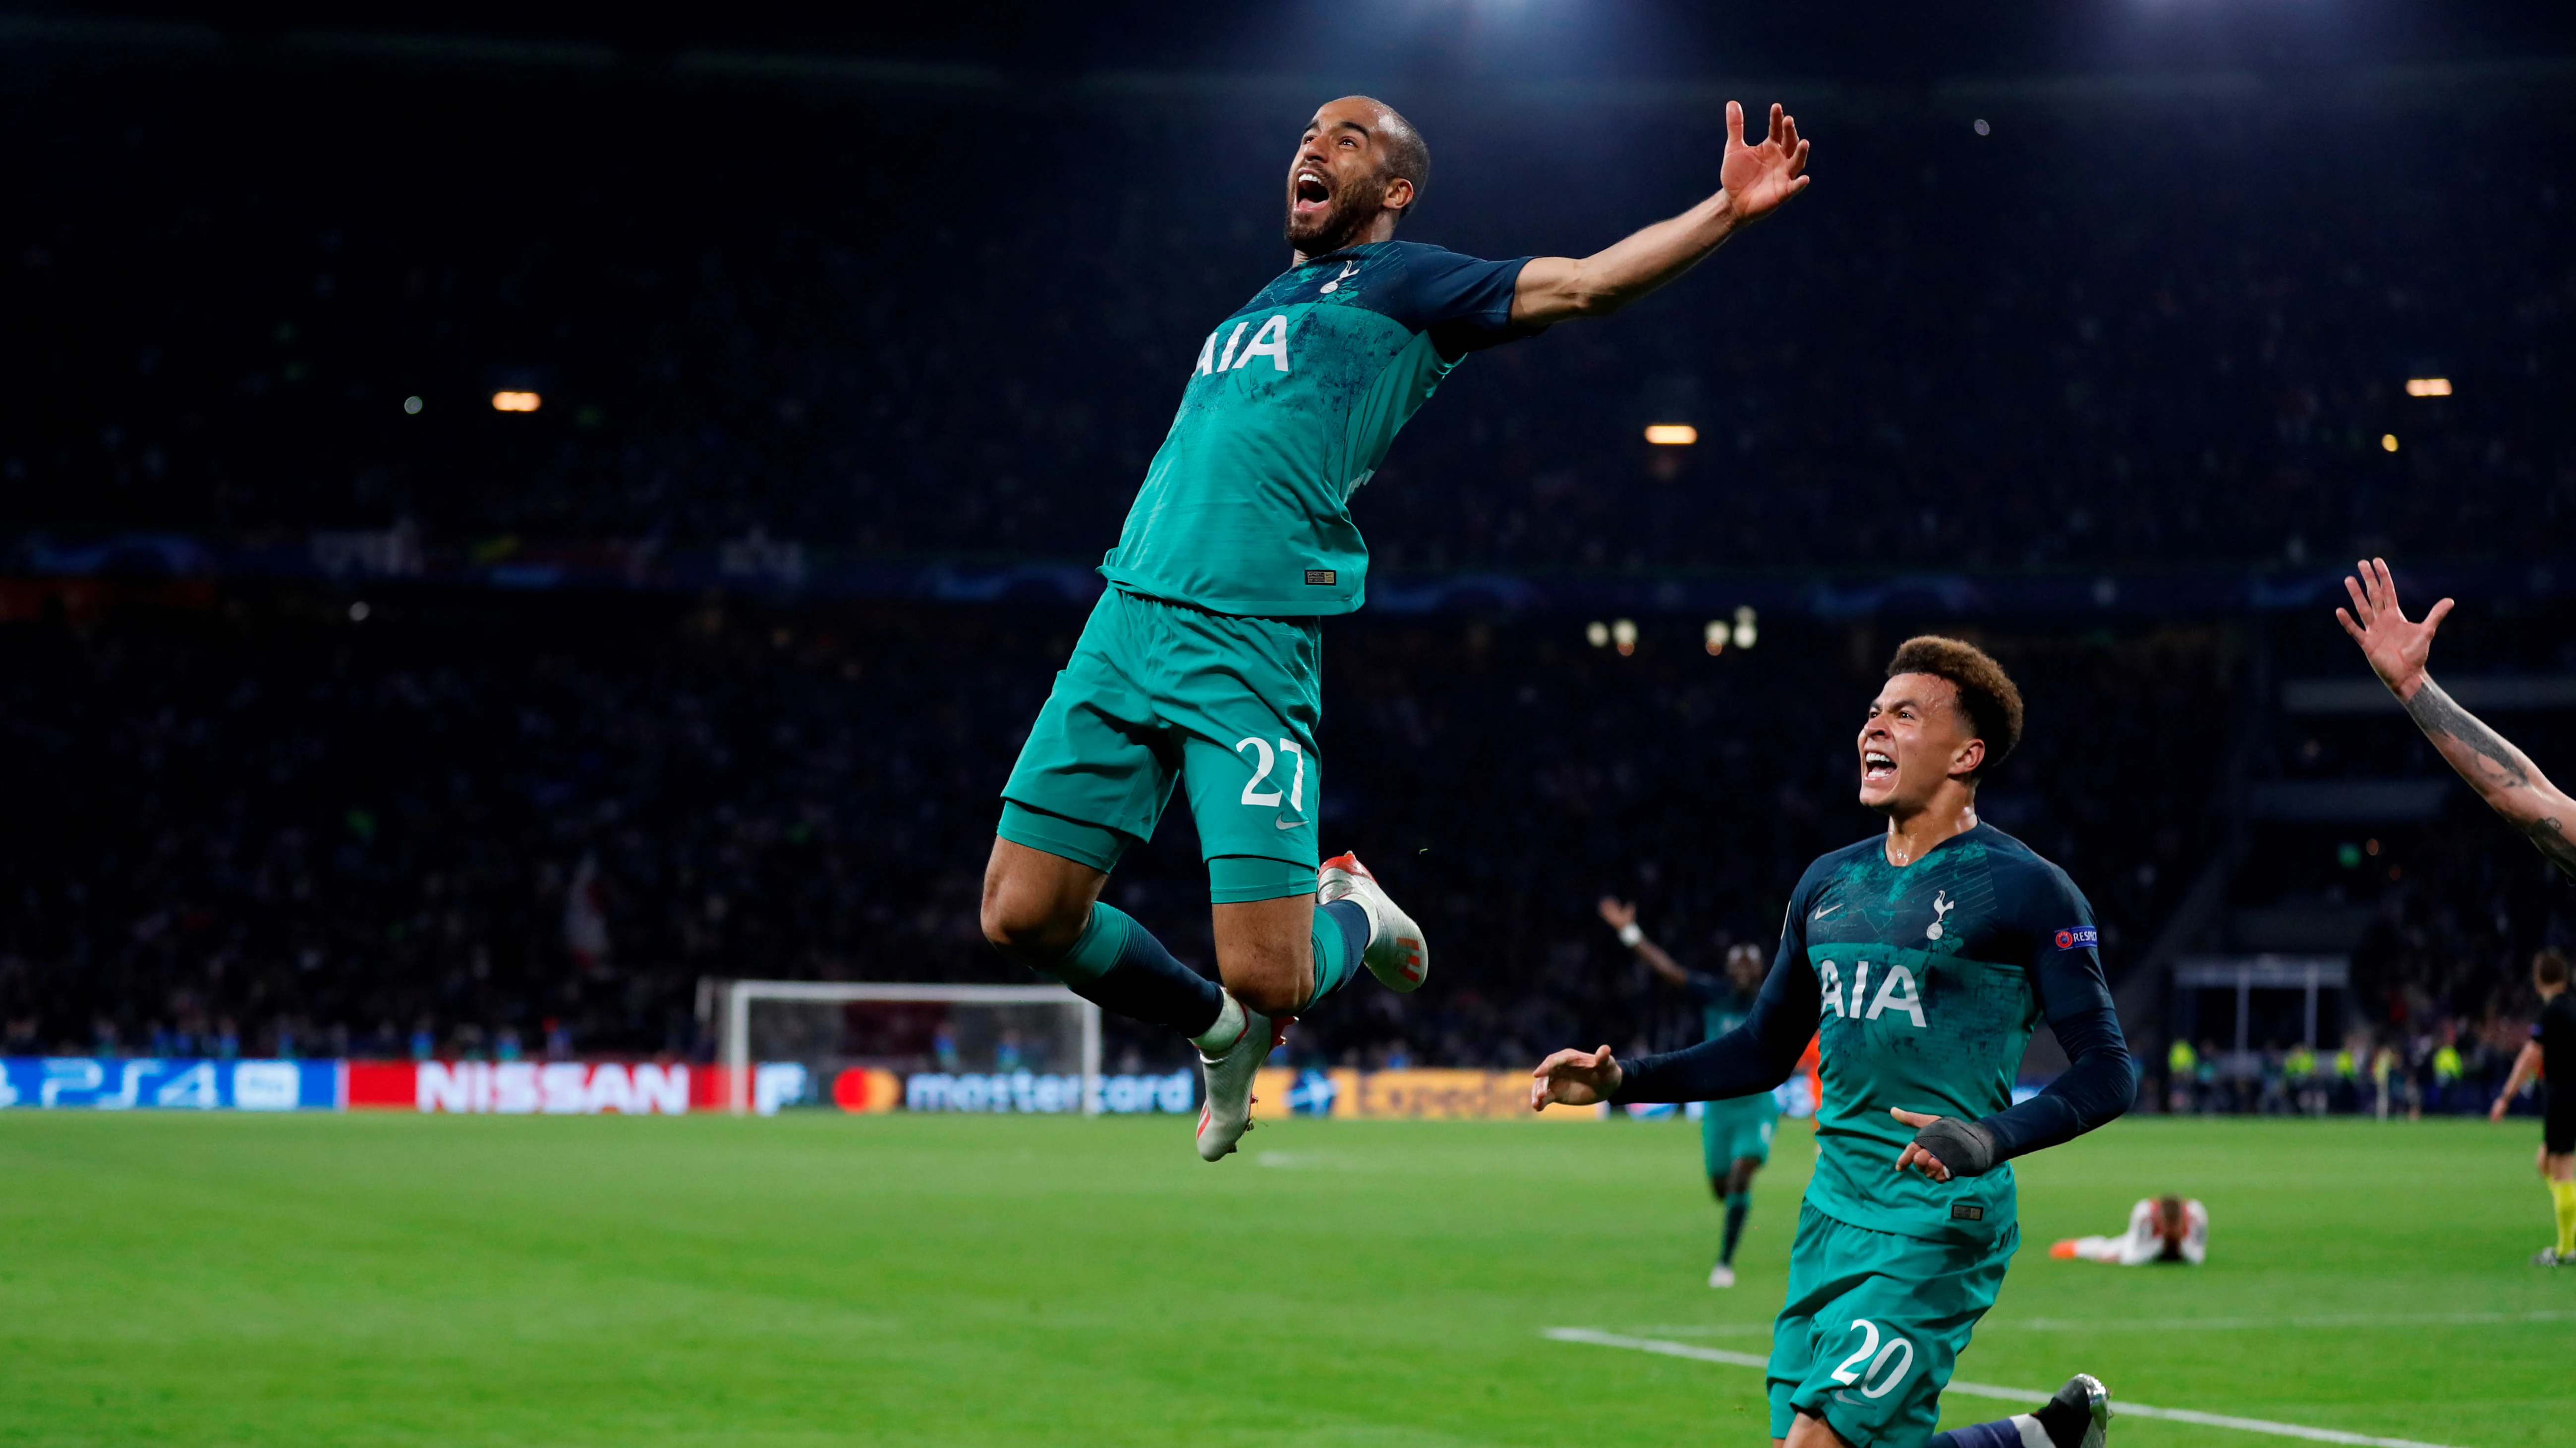
M 1100 1007 L 1061 984 L 719 982 L 726 1108 L 1100 1110 Z

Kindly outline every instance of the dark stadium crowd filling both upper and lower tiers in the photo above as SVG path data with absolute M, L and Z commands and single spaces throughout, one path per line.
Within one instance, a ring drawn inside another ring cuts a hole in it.
M 744 536 L 1097 557 L 1206 325 L 1280 263 L 1303 119 L 13 75 L 0 108 L 59 144 L 0 214 L 8 526 L 404 523 L 492 557 Z M 1672 211 L 1718 142 L 1654 106 L 1417 119 L 1440 178 L 1406 237 L 1484 255 Z M 2038 111 L 1803 124 L 1819 183 L 1795 211 L 1613 327 L 1445 386 L 1355 505 L 1381 567 L 2537 564 L 2576 544 L 2563 100 L 2439 134 L 2213 106 L 2159 119 L 2159 147 Z M 2409 397 L 2409 376 L 2455 392 Z M 544 407 L 495 412 L 497 389 Z M 1700 443 L 1649 448 L 1646 423 Z M 690 1054 L 701 976 L 1007 979 L 974 925 L 994 791 L 1079 626 L 440 590 L 358 618 L 247 585 L 18 613 L 0 1036 L 152 1054 Z M 2223 837 L 2213 734 L 2251 706 L 2236 634 L 1986 631 L 2032 698 L 1986 814 L 2081 881 L 2115 971 Z M 1440 989 L 1347 992 L 1293 1051 L 1502 1067 L 1680 1041 L 1690 1013 L 1592 899 L 1638 897 L 1695 964 L 1770 938 L 1798 868 L 1870 830 L 1847 739 L 1896 636 L 1767 621 L 1710 657 L 1698 621 L 1649 618 L 1618 657 L 1566 618 L 1334 621 L 1327 848 L 1419 902 Z M 2522 961 L 2566 935 L 2563 881 L 2524 855 L 2468 806 L 2409 873 L 2354 876 L 2378 922 L 2352 1080 L 2388 1046 L 2432 1087 L 2401 1100 L 2450 1110 L 2501 1074 Z M 1211 964 L 1188 822 L 1110 889 Z M 1177 1054 L 1123 1031 L 1113 1051 Z M 2172 1105 L 2360 1100 L 2287 1085 L 2285 1041 L 2267 1069 L 2215 1054 Z

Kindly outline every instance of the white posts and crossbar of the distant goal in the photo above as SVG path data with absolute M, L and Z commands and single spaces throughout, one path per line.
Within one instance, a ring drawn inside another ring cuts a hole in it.
M 1100 1007 L 1061 984 L 711 984 L 721 1020 L 716 1062 L 734 1116 L 755 1108 L 755 1062 L 801 1064 L 824 1080 L 842 1067 L 1079 1074 L 1082 1116 L 1100 1113 Z M 889 1010 L 871 1018 L 866 1007 Z

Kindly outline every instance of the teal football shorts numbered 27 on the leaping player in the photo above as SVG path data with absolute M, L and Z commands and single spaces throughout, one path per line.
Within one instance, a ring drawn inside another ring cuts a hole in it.
M 1321 670 L 1314 618 L 1103 593 L 1002 786 L 999 835 L 1108 871 L 1180 783 L 1208 899 L 1314 894 Z

